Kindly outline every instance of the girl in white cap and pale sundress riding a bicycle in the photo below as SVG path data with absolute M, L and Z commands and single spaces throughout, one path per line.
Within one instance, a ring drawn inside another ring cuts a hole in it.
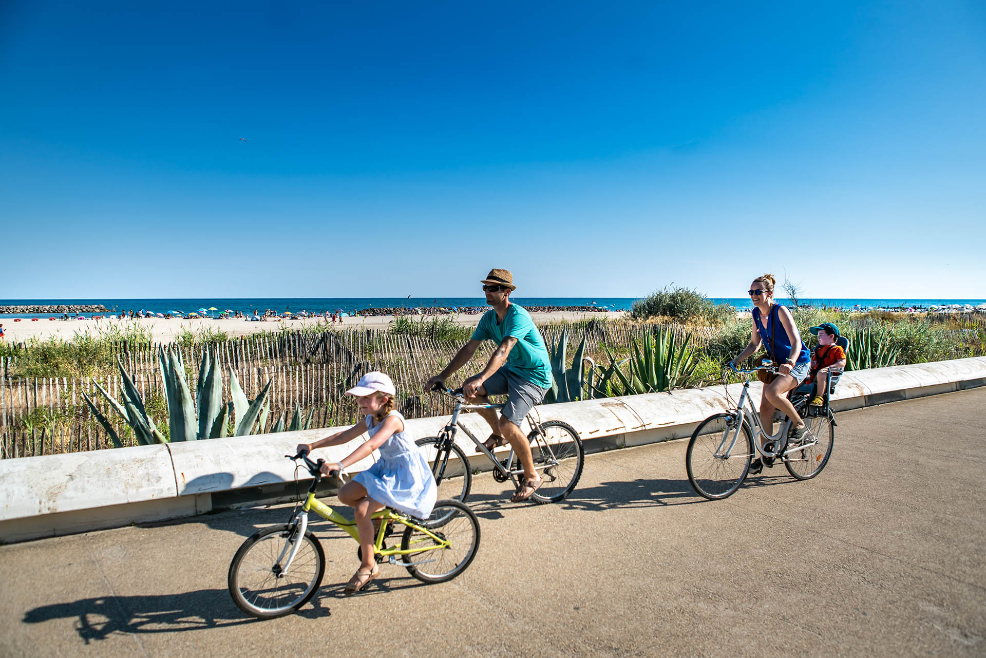
M 380 459 L 372 467 L 353 476 L 339 489 L 339 502 L 354 510 L 356 528 L 360 535 L 362 563 L 346 583 L 346 592 L 356 592 L 380 574 L 374 556 L 374 524 L 370 515 L 393 508 L 413 517 L 426 519 L 438 497 L 435 477 L 414 440 L 404 432 L 404 417 L 393 409 L 396 395 L 393 382 L 382 372 L 367 373 L 354 388 L 346 391 L 356 396 L 362 422 L 313 443 L 302 443 L 298 451 L 311 452 L 325 446 L 348 443 L 366 432 L 370 438 L 338 463 L 323 464 L 321 472 L 346 473 L 346 467 L 356 464 L 380 450 Z

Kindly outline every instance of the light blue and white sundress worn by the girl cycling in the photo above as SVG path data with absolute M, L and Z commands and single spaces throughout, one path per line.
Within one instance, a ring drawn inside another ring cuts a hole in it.
M 404 416 L 390 411 L 387 416 L 397 416 L 401 423 Z M 387 416 L 384 416 L 385 419 Z M 367 416 L 367 434 L 373 438 L 384 421 L 373 424 L 373 416 Z M 438 487 L 428 462 L 406 432 L 390 436 L 378 450 L 380 459 L 372 467 L 356 474 L 353 481 L 362 484 L 367 494 L 387 507 L 426 519 L 435 507 Z

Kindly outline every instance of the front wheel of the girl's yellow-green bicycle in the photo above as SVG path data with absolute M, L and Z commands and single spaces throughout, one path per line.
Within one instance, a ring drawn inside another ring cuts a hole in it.
M 291 567 L 283 573 L 281 562 L 291 551 L 287 545 L 292 535 L 297 536 L 297 529 L 289 526 L 261 530 L 234 555 L 227 577 L 230 595 L 247 615 L 260 619 L 282 617 L 315 595 L 325 572 L 325 554 L 315 536 L 306 532 Z

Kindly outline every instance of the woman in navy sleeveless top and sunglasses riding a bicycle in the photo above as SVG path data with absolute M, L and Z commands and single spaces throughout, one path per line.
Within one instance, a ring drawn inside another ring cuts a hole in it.
M 791 312 L 774 302 L 774 283 L 773 274 L 764 274 L 753 279 L 749 289 L 749 297 L 753 302 L 753 331 L 749 343 L 734 359 L 734 364 L 740 363 L 763 343 L 767 354 L 778 368 L 774 381 L 763 387 L 760 423 L 765 432 L 773 434 L 774 409 L 780 409 L 791 418 L 791 438 L 801 441 L 806 429 L 805 420 L 788 399 L 788 393 L 798 388 L 808 377 L 811 356 L 795 327 Z M 763 463 L 768 467 L 773 466 L 772 459 L 765 458 Z M 760 473 L 763 463 L 759 458 L 753 460 L 749 465 L 750 475 Z

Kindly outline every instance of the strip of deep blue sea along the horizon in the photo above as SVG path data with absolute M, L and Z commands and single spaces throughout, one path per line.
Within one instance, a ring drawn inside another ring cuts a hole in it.
M 526 307 L 565 307 L 565 306 L 595 306 L 604 311 L 629 311 L 637 297 L 511 297 L 521 306 Z M 752 308 L 747 297 L 714 297 L 710 298 L 716 304 L 729 304 L 737 309 Z M 790 304 L 790 300 L 779 299 L 782 304 Z M 802 305 L 813 307 L 853 309 L 928 309 L 932 306 L 950 304 L 973 307 L 986 303 L 986 299 L 848 299 L 848 298 L 804 298 L 799 300 Z M 223 311 L 242 311 L 245 314 L 263 312 L 266 309 L 278 314 L 290 311 L 298 313 L 308 311 L 312 314 L 324 312 L 352 314 L 359 309 L 369 308 L 429 308 L 446 309 L 475 308 L 486 305 L 482 297 L 254 297 L 254 298 L 180 298 L 180 299 L 0 299 L 0 306 L 39 306 L 39 305 L 82 305 L 102 304 L 109 309 L 109 314 L 120 311 L 145 311 L 154 314 L 178 312 L 186 315 L 205 309 L 208 314 L 218 314 Z M 210 311 L 209 309 L 216 309 Z M 0 314 L 2 318 L 48 318 L 60 314 Z M 90 315 L 90 314 L 83 314 Z

